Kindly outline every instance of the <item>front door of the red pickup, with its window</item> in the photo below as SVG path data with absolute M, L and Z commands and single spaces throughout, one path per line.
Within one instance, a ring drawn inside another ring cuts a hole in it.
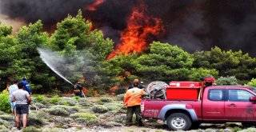
M 228 100 L 225 102 L 225 117 L 230 121 L 253 121 L 256 104 L 249 98 L 254 96 L 247 90 L 228 89 Z

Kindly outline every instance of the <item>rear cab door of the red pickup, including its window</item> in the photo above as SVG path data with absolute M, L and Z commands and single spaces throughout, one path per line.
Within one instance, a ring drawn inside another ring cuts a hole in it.
M 208 89 L 202 102 L 202 118 L 204 120 L 224 120 L 224 89 Z

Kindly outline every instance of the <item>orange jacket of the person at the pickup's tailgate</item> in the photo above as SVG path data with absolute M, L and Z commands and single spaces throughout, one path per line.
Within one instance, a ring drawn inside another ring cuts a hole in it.
M 138 87 L 134 87 L 130 90 L 127 90 L 126 94 L 125 94 L 125 97 L 123 99 L 123 103 L 126 104 L 126 106 L 141 105 L 141 102 L 142 102 L 141 94 L 146 94 L 146 92 L 142 89 L 139 89 Z M 137 97 L 135 97 L 135 96 L 137 96 Z M 130 100 L 130 102 L 128 102 L 129 100 Z M 128 103 L 126 103 L 126 102 L 128 102 Z

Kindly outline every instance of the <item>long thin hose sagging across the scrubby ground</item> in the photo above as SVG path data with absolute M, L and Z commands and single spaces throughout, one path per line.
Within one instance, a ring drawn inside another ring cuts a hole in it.
M 141 94 L 134 94 L 134 95 L 133 95 L 125 104 L 123 104 L 114 114 L 117 114 L 120 110 L 122 110 L 122 108 L 123 108 L 124 106 L 126 106 L 126 104 L 127 104 L 128 102 L 130 102 L 132 99 L 134 99 L 134 98 L 136 98 L 136 97 L 138 97 L 138 96 L 141 96 Z M 32 104 L 32 103 L 31 103 L 30 105 L 31 105 L 31 106 L 34 106 L 34 107 L 36 108 L 36 110 L 39 110 L 39 111 L 41 111 L 43 114 L 45 114 L 47 118 L 50 118 L 50 119 L 54 120 L 55 122 L 58 122 L 58 123 L 61 123 L 62 125 L 66 125 L 66 126 L 70 126 L 70 127 L 90 127 L 90 126 L 97 126 L 97 125 L 99 125 L 99 124 L 101 124 L 101 123 L 103 123 L 103 122 L 108 121 L 112 116 L 114 116 L 114 114 L 110 114 L 109 117 L 103 119 L 101 122 L 98 122 L 98 123 L 96 123 L 96 124 L 92 124 L 92 125 L 89 125 L 89 126 L 85 126 L 85 125 L 79 126 L 79 125 L 72 125 L 72 124 L 67 124 L 67 123 L 65 123 L 65 122 L 61 122 L 61 121 L 59 121 L 59 120 L 53 118 L 52 116 L 50 116 L 50 114 L 47 114 L 45 111 L 43 111 L 43 110 L 41 110 L 40 108 L 38 108 L 38 106 L 35 106 L 35 105 Z

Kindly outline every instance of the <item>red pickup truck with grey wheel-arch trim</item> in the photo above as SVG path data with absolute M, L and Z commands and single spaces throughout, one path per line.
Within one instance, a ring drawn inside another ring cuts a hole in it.
M 250 86 L 206 86 L 194 99 L 168 99 L 166 94 L 144 98 L 142 117 L 161 119 L 170 130 L 189 130 L 202 122 L 256 122 L 256 90 Z

